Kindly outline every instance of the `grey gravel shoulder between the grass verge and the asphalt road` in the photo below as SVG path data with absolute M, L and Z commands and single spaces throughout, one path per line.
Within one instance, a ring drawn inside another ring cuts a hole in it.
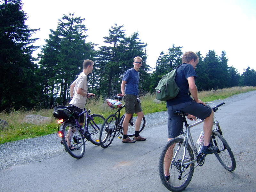
M 241 93 L 224 100 L 208 102 L 207 104 L 211 107 L 223 101 L 228 104 L 237 100 L 243 100 L 252 94 L 256 94 L 256 91 Z M 146 129 L 147 127 L 166 124 L 167 116 L 167 111 L 145 115 Z M 93 145 L 90 142 L 87 142 L 86 144 Z M 60 145 L 60 138 L 57 133 L 42 137 L 7 142 L 0 145 L 0 170 L 13 165 L 40 162 L 54 156 L 59 156 L 62 153 L 65 153 L 65 149 L 63 145 Z

